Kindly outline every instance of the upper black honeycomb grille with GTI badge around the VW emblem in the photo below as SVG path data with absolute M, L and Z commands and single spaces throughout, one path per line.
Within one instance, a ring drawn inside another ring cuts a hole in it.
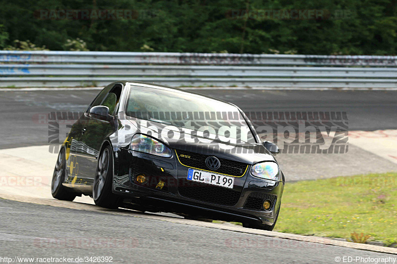
M 212 155 L 204 155 L 189 151 L 178 150 L 177 155 L 179 161 L 189 167 L 194 167 L 198 169 L 210 170 L 205 165 L 205 159 Z M 190 158 L 188 158 L 190 157 Z M 214 171 L 216 173 L 227 174 L 235 177 L 241 177 L 247 170 L 247 164 L 239 161 L 233 161 L 225 158 L 218 158 L 220 161 L 220 167 Z

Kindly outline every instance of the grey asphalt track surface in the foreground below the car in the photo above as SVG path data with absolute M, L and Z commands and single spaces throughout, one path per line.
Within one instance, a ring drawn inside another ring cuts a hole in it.
M 0 199 L 0 257 L 113 257 L 114 263 L 336 263 L 397 255 L 157 219 Z M 203 239 L 205 237 L 205 239 Z M 366 260 L 367 259 L 367 260 Z M 76 262 L 73 262 L 76 263 Z

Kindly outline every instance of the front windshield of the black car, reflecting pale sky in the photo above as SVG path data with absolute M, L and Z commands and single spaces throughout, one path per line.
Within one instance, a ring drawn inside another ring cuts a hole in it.
M 225 136 L 255 143 L 249 125 L 236 106 L 183 91 L 131 85 L 125 113 L 139 119 L 205 131 L 205 137 L 220 135 L 225 127 L 230 127 Z

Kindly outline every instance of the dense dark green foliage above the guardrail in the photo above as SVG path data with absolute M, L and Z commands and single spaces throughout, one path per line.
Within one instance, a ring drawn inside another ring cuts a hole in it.
M 0 0 L 0 6 L 0 49 L 29 40 L 49 50 L 397 53 L 397 0 Z M 59 19 L 43 17 L 46 9 L 132 9 L 133 17 Z M 290 19 L 291 9 L 303 15 Z M 309 17 L 310 10 L 322 15 Z

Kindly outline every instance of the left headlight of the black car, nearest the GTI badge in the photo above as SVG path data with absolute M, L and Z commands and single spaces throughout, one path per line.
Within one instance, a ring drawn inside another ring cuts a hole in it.
M 165 158 L 169 158 L 172 156 L 171 150 L 167 148 L 163 143 L 142 134 L 136 134 L 132 137 L 131 149 L 133 151 L 144 152 Z

